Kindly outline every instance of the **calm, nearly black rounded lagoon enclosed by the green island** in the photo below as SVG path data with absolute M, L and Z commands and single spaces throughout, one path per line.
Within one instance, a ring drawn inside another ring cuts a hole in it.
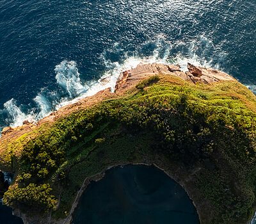
M 197 224 L 184 189 L 154 166 L 113 168 L 84 191 L 74 224 Z

